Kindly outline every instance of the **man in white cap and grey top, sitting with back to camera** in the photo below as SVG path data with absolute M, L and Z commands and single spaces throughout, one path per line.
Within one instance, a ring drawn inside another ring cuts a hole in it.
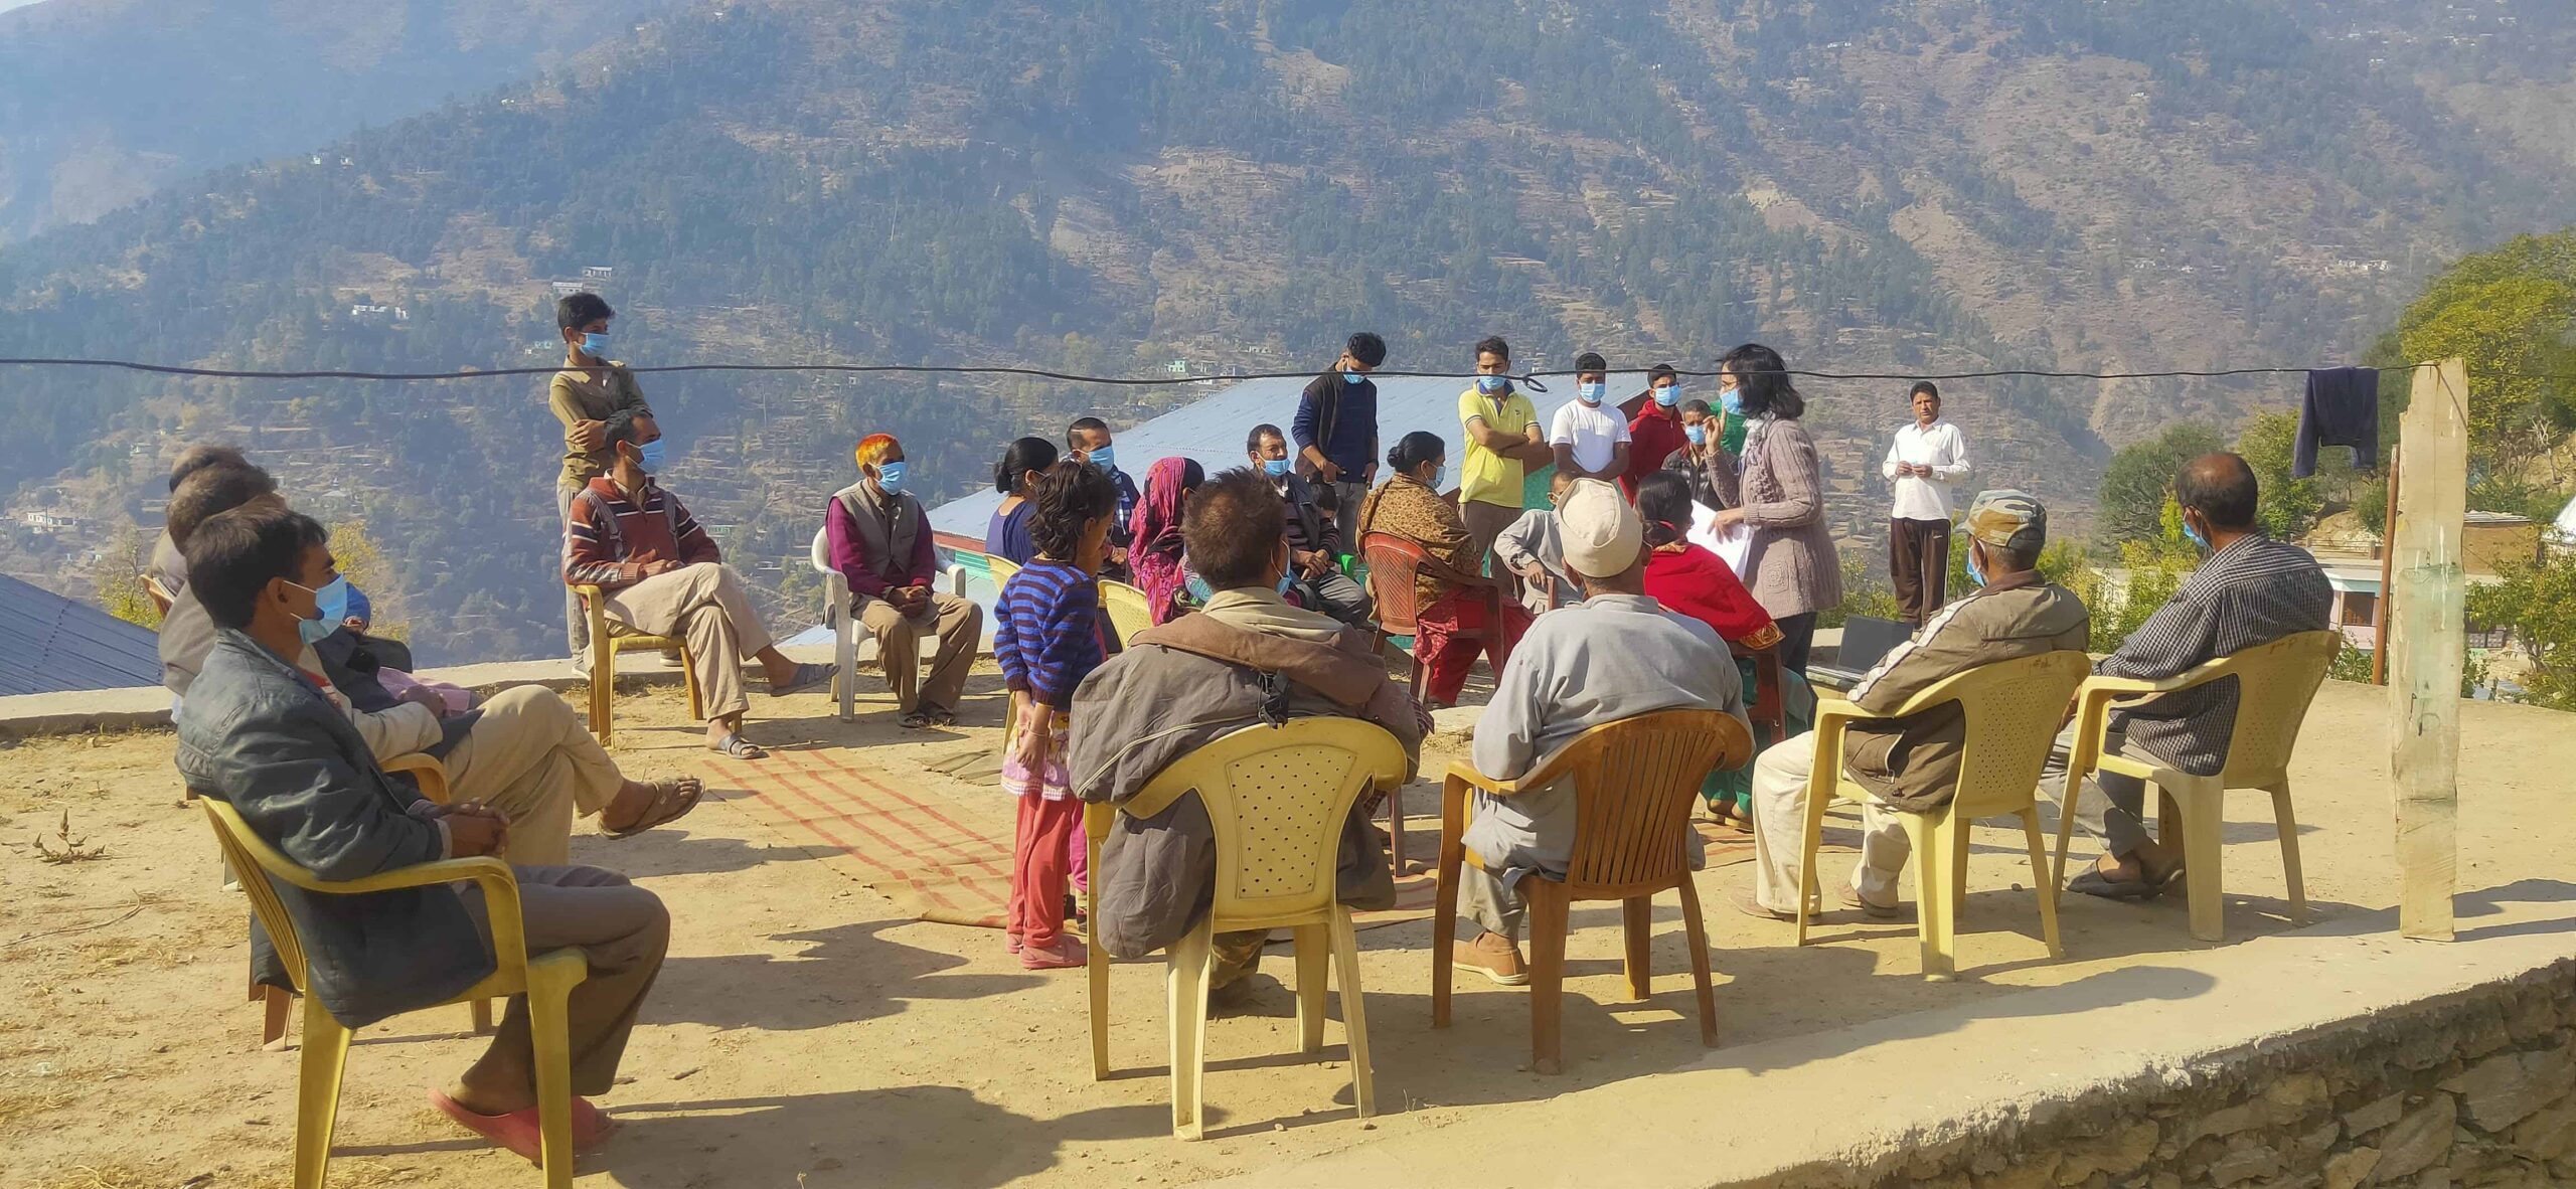
M 1605 481 L 1582 479 L 1556 520 L 1566 571 L 1584 602 L 1540 615 L 1512 649 L 1476 721 L 1476 770 L 1517 780 L 1574 736 L 1654 710 L 1726 710 L 1741 721 L 1744 679 L 1726 641 L 1646 594 L 1646 525 L 1628 499 Z M 1571 782 L 1510 798 L 1476 793 L 1466 847 L 1484 870 L 1461 867 L 1458 911 L 1479 932 L 1455 950 L 1458 970 L 1502 986 L 1530 981 L 1515 888 L 1533 872 L 1564 878 L 1574 857 L 1574 808 Z

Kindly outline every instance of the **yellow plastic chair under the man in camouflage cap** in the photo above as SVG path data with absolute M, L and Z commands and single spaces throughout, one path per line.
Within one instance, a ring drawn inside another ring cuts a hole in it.
M 1824 808 L 1834 798 L 1868 800 L 1868 790 L 1842 775 L 1844 728 L 1958 703 L 1968 721 L 1968 741 L 1958 757 L 1958 793 L 1932 813 L 1904 813 L 1906 839 L 1914 842 L 1914 929 L 1922 937 L 1924 978 L 1935 983 L 1955 978 L 1958 914 L 1968 901 L 1968 826 L 1976 818 L 2022 818 L 2022 834 L 2030 839 L 2030 872 L 2038 883 L 2038 872 L 2048 862 L 2038 808 L 2040 767 L 2048 764 L 2058 721 L 2087 672 L 2092 672 L 2092 656 L 2045 651 L 1953 674 L 1888 715 L 1862 713 L 1842 697 L 1816 703 L 1816 772 L 1806 785 L 1806 839 L 1798 847 L 1798 945 L 1806 945 L 1808 908 L 1816 901 L 1816 847 L 1824 844 Z M 2048 942 L 2048 957 L 2066 957 L 2066 947 L 2058 945 L 2058 898 L 2045 888 L 2038 893 L 2040 939 Z

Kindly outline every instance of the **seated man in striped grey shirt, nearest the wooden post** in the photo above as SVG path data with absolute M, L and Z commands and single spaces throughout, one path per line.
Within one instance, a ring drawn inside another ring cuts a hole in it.
M 2192 458 L 2174 476 L 2182 533 L 2202 548 L 2200 569 L 2120 651 L 2094 664 L 2105 677 L 2174 677 L 2282 636 L 2326 628 L 2334 589 L 2308 551 L 2272 540 L 2254 528 L 2254 468 L 2233 453 Z M 2074 718 L 2074 708 L 2069 708 Z M 2236 728 L 2236 679 L 2182 690 L 2120 708 L 2110 718 L 2107 751 L 2138 757 L 2190 775 L 2218 775 Z M 2074 728 L 2058 731 L 2040 790 L 2066 811 L 2066 754 Z M 2097 772 L 2076 800 L 2076 824 L 2102 839 L 2094 870 L 2069 888 L 2115 901 L 2143 901 L 2182 875 L 2182 847 L 2146 831 L 2146 782 Z

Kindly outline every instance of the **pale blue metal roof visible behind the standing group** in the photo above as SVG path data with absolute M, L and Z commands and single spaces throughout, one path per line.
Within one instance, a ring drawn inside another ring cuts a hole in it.
M 1633 394 L 1646 386 L 1643 371 L 1618 371 L 1610 373 L 1613 394 Z M 1530 391 L 1530 404 L 1538 407 L 1538 425 L 1548 425 L 1556 409 L 1574 399 L 1574 378 L 1553 378 L 1551 391 Z M 1244 435 L 1255 425 L 1270 422 L 1280 430 L 1296 419 L 1296 399 L 1306 391 L 1301 378 L 1278 381 L 1244 381 L 1224 389 L 1203 401 L 1172 409 L 1151 422 L 1118 430 L 1118 463 L 1121 468 L 1144 481 L 1146 466 L 1159 458 L 1195 458 L 1208 474 L 1244 466 Z M 1414 430 L 1437 432 L 1450 448 L 1450 479 L 1458 476 L 1458 394 L 1466 391 L 1466 381 L 1458 378 L 1406 378 L 1388 376 L 1378 381 L 1378 440 L 1394 445 Z M 1054 438 L 1041 432 L 1038 438 Z M 1010 445 L 1007 438 L 992 443 L 994 458 Z M 1386 468 L 1378 468 L 1386 476 Z M 976 492 L 963 499 L 953 499 L 930 512 L 930 528 L 940 533 L 969 535 L 984 540 L 984 528 L 992 522 L 992 510 L 1002 504 L 994 492 Z

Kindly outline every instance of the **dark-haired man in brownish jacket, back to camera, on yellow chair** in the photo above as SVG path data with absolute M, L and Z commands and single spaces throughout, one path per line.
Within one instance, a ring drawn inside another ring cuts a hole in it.
M 1066 739 L 1074 795 L 1126 803 L 1175 759 L 1216 736 L 1288 718 L 1360 718 L 1404 744 L 1406 780 L 1430 718 L 1386 674 L 1376 638 L 1278 594 L 1288 574 L 1285 504 L 1267 476 L 1226 471 L 1190 494 L 1182 543 L 1216 589 L 1206 607 L 1136 633 L 1074 690 Z M 1342 824 L 1340 898 L 1391 908 L 1394 872 L 1370 803 Z M 1118 816 L 1092 870 L 1092 939 L 1144 957 L 1188 934 L 1216 896 L 1216 831 L 1198 795 L 1151 818 Z M 1267 932 L 1218 934 L 1211 991 L 1260 963 Z

